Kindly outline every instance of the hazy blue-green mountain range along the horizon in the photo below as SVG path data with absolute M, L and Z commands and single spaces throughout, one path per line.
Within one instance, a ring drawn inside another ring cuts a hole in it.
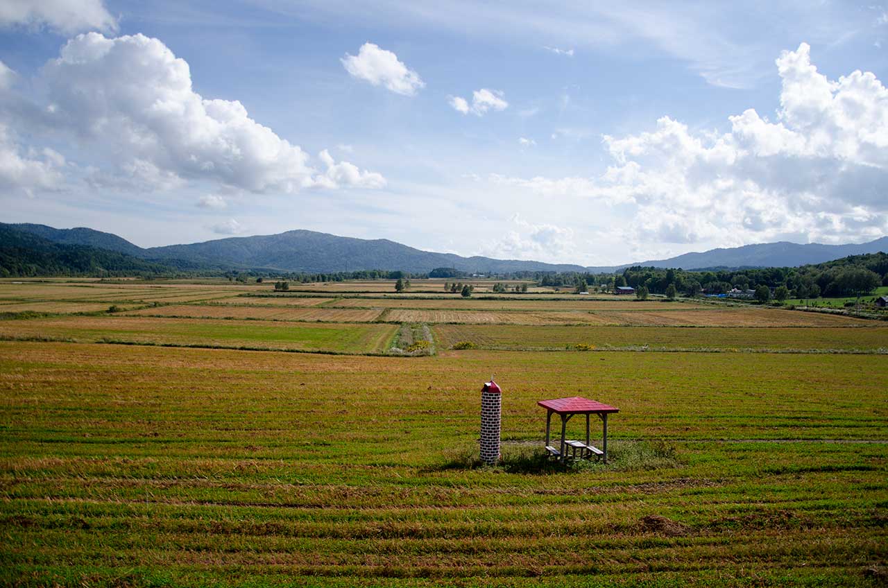
M 22 240 L 33 245 L 36 237 L 44 250 L 49 247 L 46 243 L 65 246 L 68 251 L 70 248 L 87 247 L 92 250 L 114 251 L 143 263 L 171 265 L 178 269 L 263 269 L 306 273 L 381 269 L 423 274 L 436 267 L 451 267 L 462 272 L 480 274 L 521 271 L 598 273 L 620 271 L 629 266 L 683 269 L 782 267 L 817 264 L 849 255 L 888 251 L 886 236 L 871 242 L 847 245 L 758 243 L 622 266 L 579 266 L 518 259 L 465 258 L 452 253 L 417 250 L 387 239 L 355 239 L 305 230 L 141 248 L 116 234 L 84 227 L 57 229 L 27 223 L 0 223 L 0 228 L 4 229 L 0 232 L 0 248 L 8 248 L 12 241 L 20 245 Z M 15 234 L 19 236 L 13 237 Z M 26 239 L 21 234 L 29 234 L 31 237 Z

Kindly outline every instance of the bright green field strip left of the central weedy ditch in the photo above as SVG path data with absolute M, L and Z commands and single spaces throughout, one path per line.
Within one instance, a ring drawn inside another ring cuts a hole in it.
M 373 323 L 325 324 L 108 315 L 0 321 L 0 338 L 377 354 L 385 351 L 397 329 L 397 325 Z

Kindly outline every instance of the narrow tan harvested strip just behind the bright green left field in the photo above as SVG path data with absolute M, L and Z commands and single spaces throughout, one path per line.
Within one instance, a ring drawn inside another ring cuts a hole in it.
M 142 316 L 191 316 L 218 319 L 265 319 L 274 321 L 371 322 L 381 309 L 282 308 L 281 306 L 174 305 L 143 308 L 129 313 Z

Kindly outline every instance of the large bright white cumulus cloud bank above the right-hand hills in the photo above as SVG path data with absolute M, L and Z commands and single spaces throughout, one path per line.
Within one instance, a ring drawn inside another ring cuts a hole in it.
M 605 137 L 613 163 L 598 177 L 491 179 L 629 207 L 623 233 L 635 242 L 849 242 L 888 233 L 888 90 L 868 72 L 829 80 L 807 44 L 776 65 L 773 121 L 748 109 L 718 133 L 663 116 L 650 131 Z

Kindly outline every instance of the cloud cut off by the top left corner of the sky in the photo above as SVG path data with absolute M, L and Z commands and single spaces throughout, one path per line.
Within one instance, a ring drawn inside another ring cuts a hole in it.
M 117 30 L 117 20 L 101 0 L 4 0 L 0 2 L 0 26 L 45 26 L 64 34 L 112 32 Z

